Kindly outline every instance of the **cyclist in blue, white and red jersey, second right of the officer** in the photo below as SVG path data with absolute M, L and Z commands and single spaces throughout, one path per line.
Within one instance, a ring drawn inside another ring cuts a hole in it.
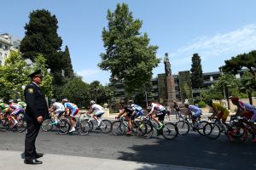
M 75 129 L 75 122 L 74 122 L 74 116 L 76 116 L 79 112 L 79 108 L 77 105 L 68 102 L 67 99 L 62 99 L 62 104 L 64 105 L 65 108 L 65 113 L 69 112 L 69 121 L 71 125 L 70 133 L 74 132 Z

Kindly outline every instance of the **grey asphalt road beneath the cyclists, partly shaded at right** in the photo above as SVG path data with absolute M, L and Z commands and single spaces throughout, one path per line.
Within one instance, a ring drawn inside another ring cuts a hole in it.
M 0 133 L 0 150 L 23 151 L 25 134 Z M 36 145 L 38 152 L 56 155 L 212 169 L 256 169 L 256 144 L 251 141 L 231 144 L 224 135 L 211 140 L 197 133 L 190 133 L 168 141 L 162 137 L 143 139 L 102 133 L 61 136 L 55 132 L 40 132 Z

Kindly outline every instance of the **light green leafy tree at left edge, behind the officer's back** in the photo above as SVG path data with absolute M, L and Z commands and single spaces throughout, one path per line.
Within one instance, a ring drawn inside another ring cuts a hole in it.
M 29 73 L 29 65 L 22 59 L 20 52 L 11 51 L 5 64 L 0 66 L 0 82 L 3 84 L 3 89 L 7 90 L 1 95 L 9 99 L 23 98 L 22 86 L 29 82 L 27 77 Z

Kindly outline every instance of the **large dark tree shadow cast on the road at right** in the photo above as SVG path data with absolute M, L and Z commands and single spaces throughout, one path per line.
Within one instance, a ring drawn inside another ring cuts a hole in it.
M 158 139 L 150 145 L 134 144 L 129 148 L 134 152 L 121 151 L 119 159 L 212 169 L 256 169 L 255 147 L 251 141 L 232 144 L 225 136 L 211 140 L 199 134 L 189 134 L 172 141 Z

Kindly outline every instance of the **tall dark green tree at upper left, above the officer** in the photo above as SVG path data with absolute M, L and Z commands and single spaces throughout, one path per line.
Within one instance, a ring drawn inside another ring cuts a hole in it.
M 64 53 L 61 52 L 62 40 L 58 36 L 58 20 L 48 10 L 38 9 L 29 15 L 25 26 L 25 37 L 20 42 L 20 52 L 25 59 L 35 61 L 38 54 L 43 54 L 46 65 L 53 73 L 54 85 L 63 85 Z

